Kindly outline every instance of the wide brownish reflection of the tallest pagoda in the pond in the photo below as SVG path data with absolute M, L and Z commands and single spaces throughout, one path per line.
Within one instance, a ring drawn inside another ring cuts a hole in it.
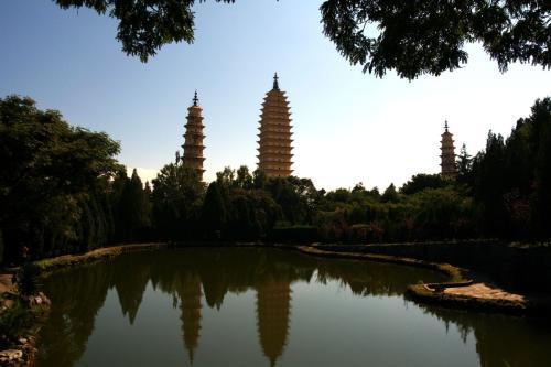
M 272 280 L 257 287 L 258 334 L 270 366 L 276 366 L 285 348 L 290 309 L 290 282 Z

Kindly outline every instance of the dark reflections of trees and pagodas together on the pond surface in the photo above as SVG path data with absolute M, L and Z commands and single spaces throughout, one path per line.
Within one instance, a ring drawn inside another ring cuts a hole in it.
M 37 365 L 62 367 L 79 363 L 94 333 L 96 317 L 111 291 L 117 295 L 122 316 L 132 327 L 140 317 L 148 287 L 169 294 L 172 310 L 180 315 L 180 345 L 190 365 L 196 361 L 201 349 L 203 319 L 212 314 L 205 312 L 219 313 L 228 294 L 253 292 L 257 339 L 264 360 L 276 366 L 285 356 L 294 322 L 291 317 L 293 302 L 301 295 L 293 293 L 293 284 L 338 282 L 356 296 L 388 298 L 401 296 L 407 284 L 419 280 L 437 281 L 442 277 L 415 268 L 315 259 L 266 249 L 192 248 L 129 253 L 112 261 L 57 273 L 46 281 L 53 309 L 41 332 Z M 548 359 L 551 336 L 539 323 L 426 306 L 421 310 L 446 327 L 455 325 L 464 343 L 468 335 L 474 335 L 483 366 L 537 366 Z M 148 311 L 144 317 L 154 319 L 155 314 Z M 222 337 L 220 341 L 224 343 Z M 119 342 L 114 336 L 112 343 Z

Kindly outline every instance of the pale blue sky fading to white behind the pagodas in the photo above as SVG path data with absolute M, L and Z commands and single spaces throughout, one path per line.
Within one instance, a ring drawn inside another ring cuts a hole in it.
M 439 171 L 444 119 L 457 147 L 475 153 L 489 129 L 508 134 L 551 95 L 551 72 L 511 65 L 500 74 L 477 45 L 466 67 L 440 77 L 364 75 L 323 36 L 322 2 L 196 4 L 195 43 L 168 45 L 142 64 L 120 51 L 115 20 L 50 0 L 1 0 L 0 97 L 30 96 L 108 132 L 121 142 L 120 161 L 150 179 L 183 143 L 197 89 L 213 180 L 225 165 L 256 168 L 260 104 L 277 71 L 293 114 L 295 174 L 325 188 L 383 188 Z

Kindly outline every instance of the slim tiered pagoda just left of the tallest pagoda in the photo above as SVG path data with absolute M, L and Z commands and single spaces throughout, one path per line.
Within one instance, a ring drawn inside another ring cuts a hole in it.
M 203 139 L 205 139 L 203 129 L 205 126 L 203 125 L 203 109 L 198 102 L 197 91 L 195 91 L 193 105 L 187 108 L 187 123 L 185 125 L 184 144 L 182 145 L 184 149 L 182 162 L 184 165 L 195 169 L 199 181 L 203 181 L 203 173 L 205 172 L 203 169 L 203 162 L 205 161 L 203 156 L 203 151 L 205 150 L 205 145 L 203 145 Z

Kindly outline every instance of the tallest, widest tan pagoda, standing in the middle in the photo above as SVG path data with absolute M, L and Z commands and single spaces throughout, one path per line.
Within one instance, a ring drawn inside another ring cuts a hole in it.
M 268 91 L 260 115 L 258 169 L 268 177 L 289 177 L 291 170 L 291 114 L 285 93 L 279 89 L 278 74 Z

